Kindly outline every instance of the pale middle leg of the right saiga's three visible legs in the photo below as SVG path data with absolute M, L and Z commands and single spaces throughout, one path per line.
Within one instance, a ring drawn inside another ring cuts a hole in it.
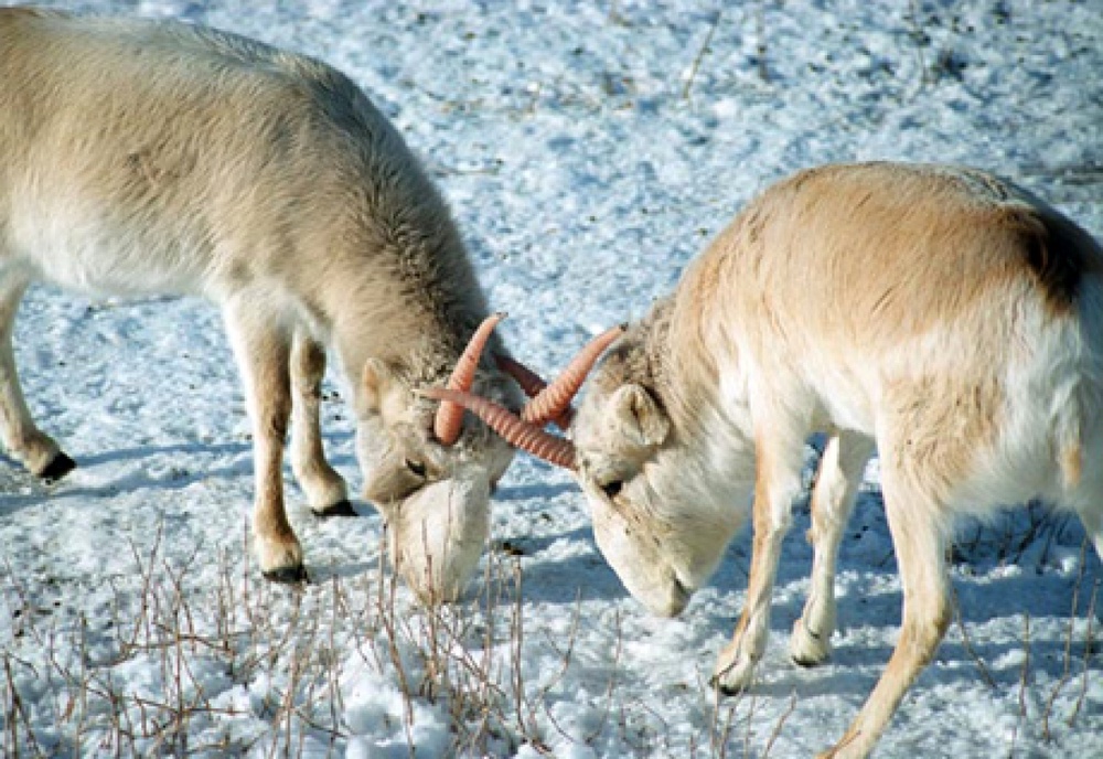
M 840 431 L 827 442 L 816 487 L 812 493 L 812 587 L 804 613 L 793 626 L 789 651 L 802 666 L 822 664 L 831 658 L 835 630 L 835 562 L 843 530 L 854 511 L 872 441 Z

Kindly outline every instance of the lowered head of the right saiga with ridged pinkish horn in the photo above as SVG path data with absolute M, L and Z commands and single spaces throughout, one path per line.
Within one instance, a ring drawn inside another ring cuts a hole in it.
M 703 452 L 679 437 L 655 389 L 649 327 L 629 331 L 595 372 L 570 424 L 572 441 L 536 428 L 539 415 L 521 419 L 480 398 L 460 400 L 513 445 L 574 472 L 601 553 L 650 611 L 672 617 L 708 580 L 742 520 L 720 503 L 722 494 L 709 492 Z M 586 371 L 596 357 L 585 356 Z M 572 380 L 571 395 L 581 385 Z

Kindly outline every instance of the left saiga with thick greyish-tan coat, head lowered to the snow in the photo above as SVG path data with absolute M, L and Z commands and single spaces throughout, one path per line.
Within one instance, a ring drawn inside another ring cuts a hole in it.
M 443 200 L 347 77 L 178 22 L 0 10 L 0 431 L 57 478 L 73 462 L 31 420 L 12 359 L 33 281 L 221 308 L 254 425 L 256 549 L 276 580 L 304 577 L 280 475 L 289 416 L 311 509 L 351 512 L 318 427 L 332 348 L 393 559 L 422 597 L 460 591 L 512 449 L 461 428 L 462 408 L 435 423 L 416 391 L 449 378 L 488 309 Z M 520 406 L 489 356 L 459 363 L 453 386 Z

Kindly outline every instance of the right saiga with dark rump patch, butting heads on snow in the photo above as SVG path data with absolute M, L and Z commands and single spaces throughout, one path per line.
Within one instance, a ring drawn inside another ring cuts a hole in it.
M 868 163 L 773 185 L 592 385 L 574 445 L 448 397 L 575 469 L 598 545 L 660 614 L 682 611 L 708 579 L 753 491 L 747 605 L 716 666 L 725 692 L 749 686 L 762 656 L 815 430 L 831 439 L 812 498 L 812 592 L 790 648 L 801 664 L 828 658 L 835 558 L 876 445 L 903 620 L 885 674 L 827 756 L 869 753 L 934 655 L 959 515 L 1045 499 L 1077 512 L 1103 556 L 1103 250 L 987 174 Z

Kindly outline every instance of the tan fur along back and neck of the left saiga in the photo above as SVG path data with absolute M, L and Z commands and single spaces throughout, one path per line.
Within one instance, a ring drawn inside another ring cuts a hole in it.
M 55 60 L 68 65 L 53 68 Z M 126 84 L 105 97 L 105 78 Z M 456 343 L 486 311 L 438 191 L 386 119 L 328 66 L 202 28 L 117 19 L 76 25 L 17 9 L 0 11 L 0 79 L 28 83 L 0 88 L 0 109 L 20 114 L 0 131 L 0 207 L 72 186 L 74 197 L 101 199 L 74 207 L 75 225 L 95 215 L 107 228 L 139 228 L 151 259 L 171 259 L 157 252 L 183 242 L 190 250 L 176 261 L 180 279 L 218 289 L 292 278 L 303 306 L 323 320 L 355 312 L 346 327 L 360 334 L 341 346 L 350 366 L 366 355 L 397 360 L 396 350 L 424 342 L 435 324 L 450 344 L 425 350 L 441 354 L 433 371 L 447 373 L 462 350 Z M 270 118 L 257 118 L 266 111 Z M 119 127 L 125 138 L 110 131 Z M 178 139 L 192 133 L 219 139 Z M 254 203 L 258 185 L 267 192 L 263 206 Z M 196 197 L 205 199 L 201 213 Z M 222 257 L 224 238 L 247 240 L 250 258 Z M 313 253 L 320 247 L 324 255 Z M 140 282 L 131 277 L 127 286 Z M 407 308 L 393 308 L 396 296 Z

